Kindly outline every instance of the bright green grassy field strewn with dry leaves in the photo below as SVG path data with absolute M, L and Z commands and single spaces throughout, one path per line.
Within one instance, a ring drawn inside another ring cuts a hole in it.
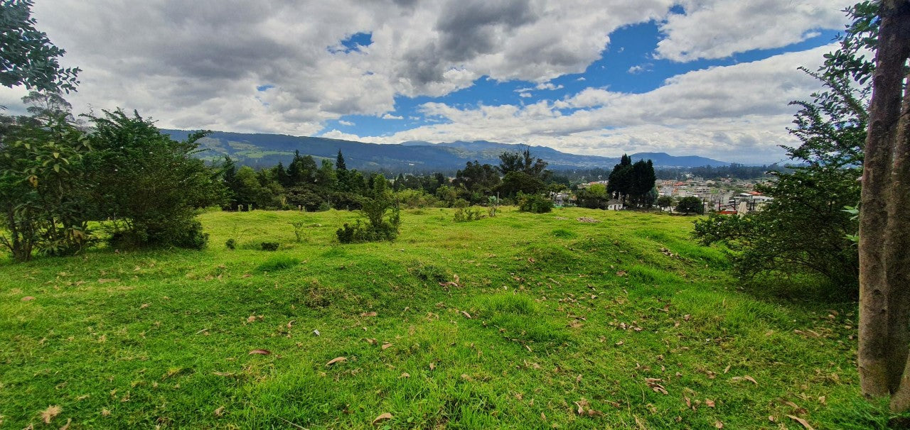
M 339 245 L 355 217 L 207 213 L 202 252 L 0 263 L 0 429 L 887 419 L 860 399 L 855 305 L 743 291 L 689 239 L 692 218 L 506 208 L 453 223 L 434 208 L 404 211 L 394 243 Z

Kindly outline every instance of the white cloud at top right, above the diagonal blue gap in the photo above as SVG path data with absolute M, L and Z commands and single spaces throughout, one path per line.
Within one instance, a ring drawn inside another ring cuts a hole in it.
M 684 14 L 667 15 L 657 58 L 692 61 L 802 42 L 820 28 L 842 30 L 854 0 L 681 0 Z

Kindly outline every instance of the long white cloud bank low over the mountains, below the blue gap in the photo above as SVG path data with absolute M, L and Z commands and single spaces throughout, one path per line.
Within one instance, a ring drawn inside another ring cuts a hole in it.
M 676 75 L 643 94 L 587 88 L 557 101 L 526 106 L 480 105 L 460 109 L 422 106 L 444 124 L 424 125 L 390 136 L 364 136 L 376 143 L 409 140 L 492 140 L 547 145 L 588 155 L 665 151 L 733 162 L 773 162 L 778 145 L 793 145 L 785 128 L 793 121 L 791 100 L 819 85 L 796 68 L 822 61 L 833 45 L 738 65 Z

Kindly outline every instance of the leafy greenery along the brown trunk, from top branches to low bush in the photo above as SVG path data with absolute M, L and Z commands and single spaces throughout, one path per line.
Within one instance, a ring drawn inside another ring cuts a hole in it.
M 837 51 L 825 55 L 817 78 L 824 89 L 800 106 L 790 133 L 800 140 L 784 146 L 801 165 L 774 173 L 771 185 L 757 189 L 773 201 L 759 212 L 740 217 L 712 216 L 696 222 L 704 244 L 731 247 L 734 266 L 743 277 L 766 273 L 824 275 L 838 288 L 855 293 L 858 256 L 851 235 L 854 217 L 844 207 L 860 197 L 866 105 L 874 70 L 863 51 L 875 47 L 877 6 L 863 2 L 848 8 L 853 24 L 840 37 Z

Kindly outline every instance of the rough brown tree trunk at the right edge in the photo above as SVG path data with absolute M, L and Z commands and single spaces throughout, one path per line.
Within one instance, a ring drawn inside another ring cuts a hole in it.
M 910 0 L 880 6 L 860 211 L 863 394 L 910 410 Z

